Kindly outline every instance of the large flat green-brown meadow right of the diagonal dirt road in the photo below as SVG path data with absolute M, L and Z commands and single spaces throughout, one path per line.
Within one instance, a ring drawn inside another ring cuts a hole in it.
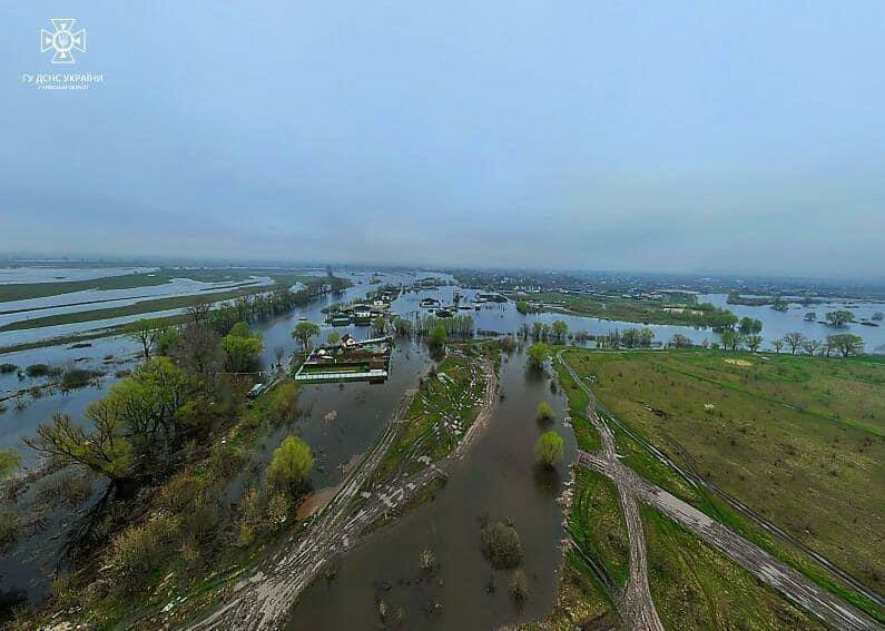
M 567 357 L 596 375 L 600 402 L 635 434 L 882 590 L 885 362 L 700 351 Z M 691 487 L 611 425 L 625 464 L 883 620 L 799 548 Z

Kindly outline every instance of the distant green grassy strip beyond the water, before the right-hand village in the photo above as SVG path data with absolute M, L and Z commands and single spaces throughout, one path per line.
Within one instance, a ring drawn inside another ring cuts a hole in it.
M 717 326 L 722 309 L 709 308 L 695 302 L 645 300 L 639 298 L 602 297 L 589 294 L 542 292 L 527 295 L 525 299 L 545 305 L 544 310 L 603 319 L 635 322 L 637 324 L 679 324 L 686 326 Z

